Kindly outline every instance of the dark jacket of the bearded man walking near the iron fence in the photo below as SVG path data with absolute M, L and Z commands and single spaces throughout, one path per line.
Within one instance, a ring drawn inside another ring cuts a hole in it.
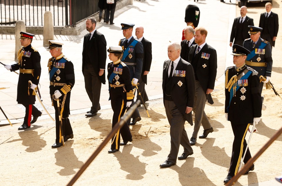
M 86 59 L 90 59 L 87 63 L 91 63 L 95 72 L 97 73 L 98 78 L 103 84 L 106 84 L 106 76 L 105 71 L 102 76 L 99 76 L 100 69 L 106 68 L 106 59 L 107 59 L 107 43 L 105 36 L 98 32 L 97 30 L 94 32 L 92 38 L 89 40 L 89 34 L 84 36 L 83 40 L 83 50 L 82 50 L 82 73 L 84 71 L 84 65 L 86 63 Z M 86 51 L 86 42 L 89 46 L 89 50 Z

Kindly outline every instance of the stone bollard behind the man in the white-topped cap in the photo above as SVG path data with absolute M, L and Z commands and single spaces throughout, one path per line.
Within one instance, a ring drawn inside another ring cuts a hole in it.
M 48 40 L 54 40 L 53 16 L 51 11 L 44 13 L 43 46 L 49 46 Z

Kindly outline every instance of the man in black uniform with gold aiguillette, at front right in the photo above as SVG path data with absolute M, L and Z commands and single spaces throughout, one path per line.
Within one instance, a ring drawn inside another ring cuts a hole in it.
M 259 93 L 258 72 L 247 67 L 245 60 L 250 51 L 239 45 L 233 45 L 233 63 L 225 71 L 225 115 L 231 122 L 234 134 L 231 163 L 224 183 L 227 183 L 238 172 L 242 155 L 246 151 L 245 136 L 250 123 L 258 124 L 261 117 L 261 94 Z M 251 158 L 247 149 L 244 163 Z M 252 165 L 245 174 L 254 170 Z

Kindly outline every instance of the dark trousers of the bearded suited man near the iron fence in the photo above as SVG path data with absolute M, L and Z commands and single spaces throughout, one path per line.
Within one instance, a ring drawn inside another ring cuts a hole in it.
M 94 68 L 91 64 L 85 64 L 84 66 L 84 83 L 87 95 L 92 103 L 92 112 L 98 112 L 100 107 L 100 94 L 102 82 L 98 78 L 99 75 L 96 74 Z

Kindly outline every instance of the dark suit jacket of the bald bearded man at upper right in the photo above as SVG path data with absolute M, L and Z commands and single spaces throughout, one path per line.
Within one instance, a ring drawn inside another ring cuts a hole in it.
M 230 42 L 232 42 L 232 43 L 233 43 L 234 38 L 236 40 L 236 34 L 237 34 L 237 31 L 238 31 L 238 25 L 240 24 L 240 20 L 241 20 L 240 18 L 241 18 L 241 16 L 236 17 L 234 19 L 234 22 L 233 22 L 233 26 L 232 26 L 232 30 L 231 30 L 231 35 L 230 35 Z M 248 26 L 249 25 L 250 26 L 254 26 L 253 19 L 248 17 L 248 16 L 246 16 L 246 19 L 243 22 L 243 30 L 242 30 L 243 40 L 245 40 L 247 38 L 250 38 L 250 35 L 248 34 L 248 31 L 249 31 Z

